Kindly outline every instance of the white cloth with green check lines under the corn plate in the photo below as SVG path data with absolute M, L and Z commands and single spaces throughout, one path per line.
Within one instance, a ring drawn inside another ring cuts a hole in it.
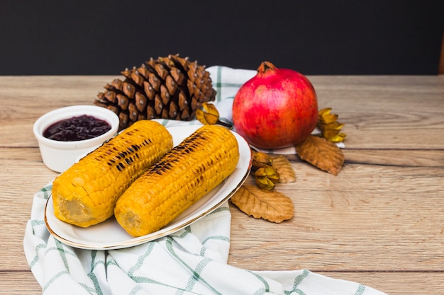
M 255 71 L 213 66 L 221 119 L 231 121 L 237 89 Z M 228 102 L 228 103 L 227 103 Z M 199 124 L 160 120 L 169 126 Z M 23 248 L 44 295 L 305 294 L 382 295 L 362 284 L 309 270 L 255 271 L 228 265 L 231 213 L 227 202 L 176 233 L 118 250 L 72 248 L 53 238 L 44 221 L 52 183 L 33 198 Z

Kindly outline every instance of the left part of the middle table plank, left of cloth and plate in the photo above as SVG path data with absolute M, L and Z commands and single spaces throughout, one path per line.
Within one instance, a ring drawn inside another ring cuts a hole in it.
M 33 149 L 0 149 L 2 165 L 0 182 L 3 198 L 0 214 L 0 234 L 2 237 L 0 259 L 2 270 L 23 270 L 28 264 L 23 253 L 23 236 L 26 222 L 30 219 L 33 195 L 50 183 L 57 173 L 43 165 L 40 151 Z M 11 177 L 21 175 L 21 177 Z

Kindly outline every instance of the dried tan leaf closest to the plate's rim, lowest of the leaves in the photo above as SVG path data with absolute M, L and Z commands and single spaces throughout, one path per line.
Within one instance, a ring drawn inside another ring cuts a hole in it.
M 255 185 L 243 185 L 231 197 L 231 202 L 242 212 L 255 219 L 266 219 L 277 224 L 292 219 L 292 199 L 282 192 L 261 190 Z

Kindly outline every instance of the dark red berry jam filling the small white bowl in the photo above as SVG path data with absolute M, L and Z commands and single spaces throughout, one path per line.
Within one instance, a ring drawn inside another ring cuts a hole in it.
M 60 120 L 43 132 L 43 137 L 57 141 L 79 141 L 98 137 L 108 132 L 111 125 L 91 115 L 81 115 Z

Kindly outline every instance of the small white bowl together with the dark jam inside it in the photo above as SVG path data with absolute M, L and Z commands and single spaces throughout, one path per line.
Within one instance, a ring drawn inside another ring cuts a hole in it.
M 118 116 L 96 105 L 73 105 L 47 112 L 33 132 L 48 168 L 63 172 L 118 132 Z

